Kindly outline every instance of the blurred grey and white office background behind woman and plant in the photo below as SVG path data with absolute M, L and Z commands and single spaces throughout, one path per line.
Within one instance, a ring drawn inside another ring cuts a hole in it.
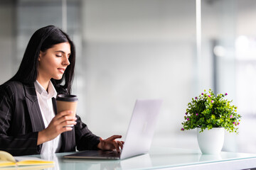
M 255 153 L 256 1 L 199 2 L 1 0 L 0 83 L 16 73 L 31 35 L 55 25 L 75 42 L 73 94 L 95 134 L 125 139 L 136 99 L 163 98 L 152 145 L 198 149 L 196 130 L 182 132 L 181 122 L 191 98 L 213 89 L 242 115 L 223 150 Z

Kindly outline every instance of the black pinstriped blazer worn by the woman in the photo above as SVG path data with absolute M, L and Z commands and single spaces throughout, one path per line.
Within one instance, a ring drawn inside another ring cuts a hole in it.
M 56 101 L 53 98 L 56 113 Z M 92 134 L 77 115 L 73 130 L 61 134 L 60 152 L 97 149 L 100 137 Z M 9 81 L 0 86 L 0 150 L 13 154 L 40 154 L 38 132 L 45 129 L 34 84 Z

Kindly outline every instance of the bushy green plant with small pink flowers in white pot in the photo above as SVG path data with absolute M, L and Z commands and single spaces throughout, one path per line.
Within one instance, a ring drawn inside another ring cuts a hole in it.
M 228 94 L 215 96 L 211 89 L 192 98 L 184 116 L 181 130 L 197 128 L 198 145 L 203 154 L 217 154 L 224 142 L 224 129 L 238 134 L 241 116 L 232 101 L 224 99 Z M 207 130 L 206 130 L 207 129 Z

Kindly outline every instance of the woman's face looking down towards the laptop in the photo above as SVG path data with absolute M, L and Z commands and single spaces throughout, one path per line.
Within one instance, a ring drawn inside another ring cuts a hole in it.
M 38 57 L 38 78 L 50 80 L 61 79 L 70 64 L 70 44 L 63 42 L 41 52 Z

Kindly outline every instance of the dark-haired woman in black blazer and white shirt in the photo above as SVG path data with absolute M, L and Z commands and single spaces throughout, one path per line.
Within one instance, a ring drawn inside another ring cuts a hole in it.
M 75 47 L 55 26 L 37 30 L 28 42 L 18 72 L 0 86 L 0 150 L 15 156 L 117 149 L 122 141 L 92 134 L 72 111 L 56 114 L 57 94 L 70 94 Z M 68 127 L 67 125 L 74 125 Z

